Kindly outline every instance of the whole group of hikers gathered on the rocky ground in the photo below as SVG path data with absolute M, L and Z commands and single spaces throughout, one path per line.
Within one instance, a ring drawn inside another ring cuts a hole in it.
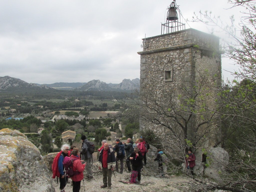
M 52 178 L 59 178 L 61 192 L 65 192 L 65 186 L 69 177 L 72 180 L 73 192 L 79 192 L 81 181 L 84 178 L 84 170 L 86 170 L 86 177 L 88 180 L 93 178 L 91 164 L 92 153 L 95 148 L 93 148 L 92 151 L 92 143 L 86 139 L 85 135 L 81 136 L 81 140 L 82 150 L 80 153 L 76 146 L 70 147 L 68 144 L 64 144 L 61 146 L 61 151 L 56 155 L 52 163 Z M 121 142 L 120 139 L 116 139 L 114 146 L 109 144 L 107 140 L 103 140 L 101 148 L 98 149 L 99 170 L 102 170 L 103 175 L 103 185 L 101 185 L 100 188 L 108 187 L 108 189 L 111 189 L 112 171 L 115 169 L 116 172 L 122 174 L 124 160 L 126 162 L 127 172 L 131 173 L 130 182 L 140 184 L 141 171 L 143 170 L 143 165 L 146 166 L 147 164 L 146 153 L 149 148 L 150 145 L 145 141 L 143 136 L 136 139 L 135 143 L 133 143 L 131 138 L 128 138 L 126 143 Z M 160 149 L 158 149 L 157 152 L 158 153 L 154 161 L 158 162 L 160 177 L 164 177 L 166 155 Z M 120 171 L 118 161 L 120 161 Z M 72 162 L 72 164 L 70 162 Z M 195 156 L 190 149 L 186 158 L 186 167 L 191 171 L 192 175 L 194 174 L 194 166 Z

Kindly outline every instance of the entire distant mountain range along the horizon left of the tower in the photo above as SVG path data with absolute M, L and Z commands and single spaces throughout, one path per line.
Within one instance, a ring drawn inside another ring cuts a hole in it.
M 88 83 L 53 83 L 53 84 L 36 84 L 27 83 L 18 78 L 4 76 L 0 77 L 0 91 L 1 90 L 26 90 L 26 89 L 65 89 L 76 91 L 129 91 L 138 89 L 140 85 L 140 79 L 133 80 L 124 79 L 119 84 L 105 83 L 100 80 L 92 80 Z

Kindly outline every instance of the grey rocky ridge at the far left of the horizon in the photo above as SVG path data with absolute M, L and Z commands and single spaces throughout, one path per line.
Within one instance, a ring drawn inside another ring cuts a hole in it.
M 9 76 L 4 76 L 4 77 L 0 77 L 0 90 L 6 90 L 8 88 L 44 88 L 44 89 L 49 89 L 50 87 L 47 87 L 45 85 L 43 86 L 39 86 L 35 83 L 27 83 L 25 81 L 22 81 L 18 78 L 14 78 L 14 77 L 9 77 Z

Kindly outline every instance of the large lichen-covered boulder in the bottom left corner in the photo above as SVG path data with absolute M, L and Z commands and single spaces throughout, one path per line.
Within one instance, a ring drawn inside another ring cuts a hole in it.
M 40 151 L 23 133 L 0 130 L 0 148 L 0 191 L 55 191 Z

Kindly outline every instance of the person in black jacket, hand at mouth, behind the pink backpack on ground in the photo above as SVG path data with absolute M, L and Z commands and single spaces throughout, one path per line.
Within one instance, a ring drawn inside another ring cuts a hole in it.
M 141 183 L 141 164 L 142 164 L 142 153 L 139 151 L 137 147 L 134 148 L 134 151 L 132 152 L 130 156 L 130 160 L 132 163 L 132 170 L 138 172 L 138 182 Z

